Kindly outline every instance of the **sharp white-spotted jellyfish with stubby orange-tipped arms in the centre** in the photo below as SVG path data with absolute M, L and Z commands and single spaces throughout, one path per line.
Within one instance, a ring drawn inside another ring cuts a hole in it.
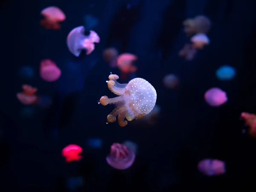
M 123 105 L 114 109 L 107 117 L 108 122 L 115 122 L 118 115 L 118 123 L 121 127 L 127 125 L 127 121 L 143 118 L 150 113 L 157 101 L 157 92 L 145 79 L 135 78 L 128 84 L 119 84 L 117 75 L 108 76 L 108 88 L 116 95 L 115 98 L 102 96 L 99 103 L 102 105 L 123 102 Z

